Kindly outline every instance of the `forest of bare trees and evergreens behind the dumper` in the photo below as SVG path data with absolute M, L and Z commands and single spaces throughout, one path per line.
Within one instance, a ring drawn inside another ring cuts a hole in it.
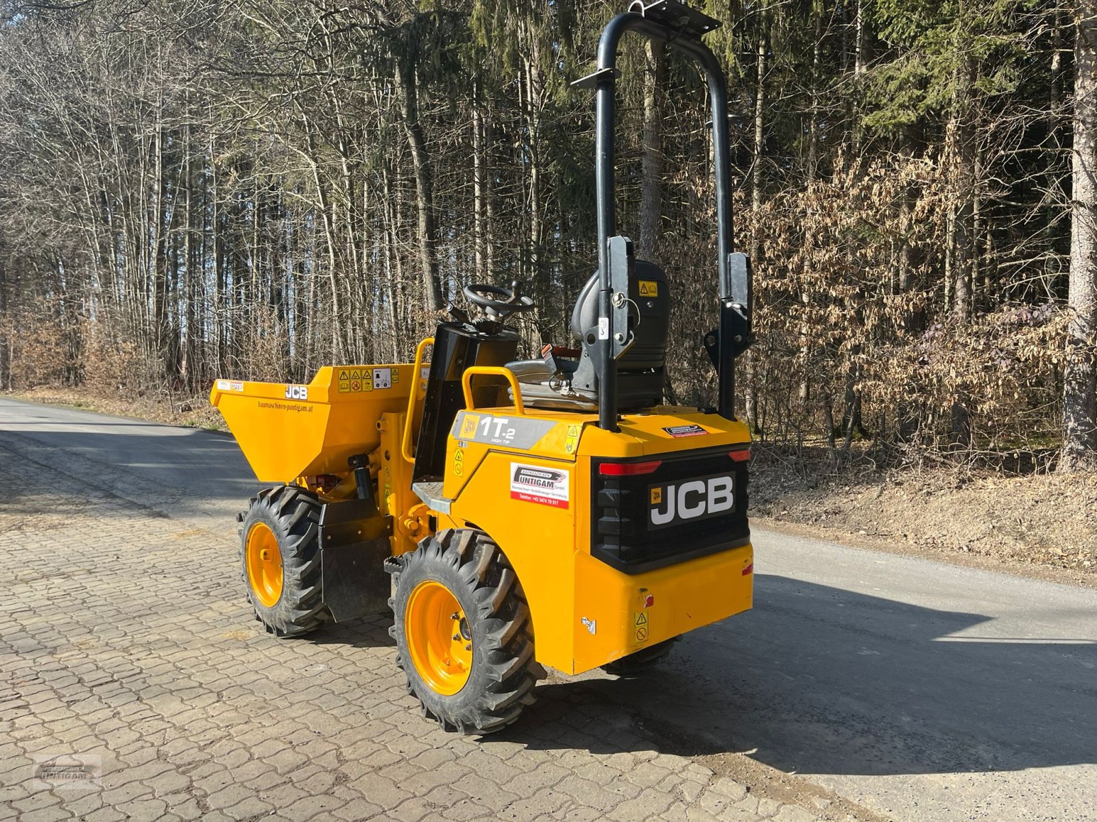
M 1097 460 L 1097 0 L 693 4 L 730 87 L 757 439 Z M 0 389 L 201 396 L 407 362 L 471 282 L 568 342 L 598 35 L 626 0 L 0 0 Z M 627 41 L 626 41 L 627 42 Z M 620 230 L 709 404 L 710 117 L 627 42 Z

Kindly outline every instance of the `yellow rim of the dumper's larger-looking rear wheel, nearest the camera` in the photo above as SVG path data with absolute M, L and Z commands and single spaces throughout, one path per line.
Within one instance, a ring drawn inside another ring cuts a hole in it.
M 411 591 L 404 610 L 408 654 L 422 681 L 438 694 L 452 696 L 468 682 L 473 640 L 457 597 L 434 580 Z

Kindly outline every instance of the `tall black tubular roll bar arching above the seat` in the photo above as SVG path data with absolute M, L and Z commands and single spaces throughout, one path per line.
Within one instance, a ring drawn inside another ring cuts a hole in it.
M 608 322 L 609 333 L 599 333 L 598 357 L 599 412 L 598 425 L 617 431 L 617 363 L 612 357 L 613 311 L 611 305 L 609 240 L 617 232 L 614 213 L 614 90 L 617 87 L 618 44 L 625 32 L 635 32 L 648 39 L 663 41 L 688 55 L 704 70 L 712 107 L 713 172 L 716 182 L 716 244 L 719 249 L 720 301 L 731 307 L 742 302 L 749 310 L 748 295 L 739 295 L 732 276 L 732 184 L 731 152 L 727 142 L 727 83 L 720 61 L 701 42 L 700 35 L 720 25 L 716 21 L 690 10 L 674 0 L 660 0 L 649 7 L 634 3 L 643 11 L 626 11 L 614 16 L 602 31 L 598 43 L 598 67 L 595 73 L 576 84 L 593 85 L 595 96 L 595 171 L 598 209 L 598 313 Z M 739 299 L 742 298 L 742 299 Z M 730 305 L 731 304 L 731 305 Z M 624 331 L 622 329 L 622 331 Z M 731 334 L 720 335 L 719 411 L 734 418 L 735 369 Z M 726 338 L 726 339 L 725 339 Z M 726 350 L 725 350 L 726 347 Z M 726 355 L 726 356 L 725 356 Z

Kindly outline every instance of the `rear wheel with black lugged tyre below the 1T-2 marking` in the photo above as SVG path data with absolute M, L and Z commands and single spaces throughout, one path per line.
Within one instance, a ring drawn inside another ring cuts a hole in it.
M 486 534 L 427 537 L 386 563 L 395 595 L 396 664 L 423 716 L 448 731 L 490 733 L 533 703 L 530 610 L 513 569 Z

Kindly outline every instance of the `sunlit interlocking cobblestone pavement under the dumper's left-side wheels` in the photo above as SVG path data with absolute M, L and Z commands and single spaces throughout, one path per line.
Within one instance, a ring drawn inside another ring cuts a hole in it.
M 499 734 L 443 733 L 386 620 L 274 639 L 244 602 L 234 523 L 80 479 L 0 441 L 0 820 L 842 818 L 660 750 L 563 677 Z M 32 760 L 55 754 L 99 757 L 101 785 L 36 785 Z

